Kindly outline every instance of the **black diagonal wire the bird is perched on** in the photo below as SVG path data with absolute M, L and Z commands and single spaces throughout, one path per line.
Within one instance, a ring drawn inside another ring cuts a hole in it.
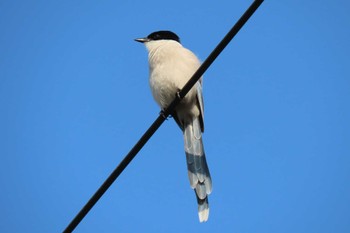
M 135 146 L 129 151 L 125 158 L 120 162 L 120 164 L 114 169 L 114 171 L 109 175 L 106 181 L 101 185 L 101 187 L 95 192 L 95 194 L 90 198 L 90 200 L 85 204 L 85 206 L 79 211 L 75 218 L 69 223 L 66 229 L 63 231 L 72 232 L 78 224 L 83 220 L 87 213 L 92 209 L 92 207 L 97 203 L 97 201 L 103 196 L 103 194 L 108 190 L 108 188 L 113 184 L 113 182 L 118 178 L 118 176 L 124 171 L 128 164 L 135 158 L 136 154 L 142 149 L 146 142 L 152 137 L 152 135 L 158 130 L 158 128 L 163 124 L 165 119 L 174 111 L 176 105 L 182 100 L 183 97 L 190 91 L 194 84 L 202 77 L 204 72 L 209 68 L 209 66 L 214 62 L 214 60 L 219 56 L 219 54 L 224 50 L 224 48 L 230 43 L 233 37 L 238 33 L 238 31 L 243 27 L 243 25 L 248 21 L 248 19 L 254 14 L 256 9 L 261 5 L 264 0 L 255 0 L 251 6 L 246 10 L 246 12 L 241 16 L 237 23 L 232 27 L 232 29 L 227 33 L 227 35 L 222 39 L 218 46 L 213 50 L 213 52 L 208 56 L 208 58 L 202 63 L 196 73 L 193 74 L 191 79 L 183 87 L 183 89 L 178 93 L 175 99 L 171 102 L 168 108 L 166 108 L 158 116 L 158 118 L 153 122 L 153 124 L 148 128 L 148 130 L 142 135 L 140 140 L 135 144 Z

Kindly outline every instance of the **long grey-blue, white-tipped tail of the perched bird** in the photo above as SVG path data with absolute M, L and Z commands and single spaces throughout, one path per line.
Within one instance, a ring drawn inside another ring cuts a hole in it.
M 202 131 L 198 118 L 185 125 L 184 140 L 188 178 L 196 193 L 199 221 L 206 222 L 209 217 L 208 195 L 211 193 L 212 183 L 205 159 Z

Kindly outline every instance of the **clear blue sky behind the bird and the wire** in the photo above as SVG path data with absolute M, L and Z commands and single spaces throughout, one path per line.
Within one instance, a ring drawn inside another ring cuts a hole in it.
M 0 232 L 61 232 L 159 113 L 145 48 L 204 60 L 251 1 L 0 2 Z M 200 224 L 165 122 L 76 232 L 350 232 L 350 3 L 265 1 L 204 77 Z

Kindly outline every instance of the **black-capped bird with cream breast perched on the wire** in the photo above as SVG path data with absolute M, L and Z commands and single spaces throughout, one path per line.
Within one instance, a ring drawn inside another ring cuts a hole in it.
M 179 36 L 172 31 L 156 31 L 135 41 L 143 43 L 148 51 L 151 92 L 161 110 L 164 110 L 201 63 L 192 51 L 182 46 Z M 208 195 L 212 191 L 212 180 L 202 140 L 202 78 L 175 107 L 171 116 L 183 132 L 188 178 L 196 194 L 199 221 L 206 222 L 209 217 Z

